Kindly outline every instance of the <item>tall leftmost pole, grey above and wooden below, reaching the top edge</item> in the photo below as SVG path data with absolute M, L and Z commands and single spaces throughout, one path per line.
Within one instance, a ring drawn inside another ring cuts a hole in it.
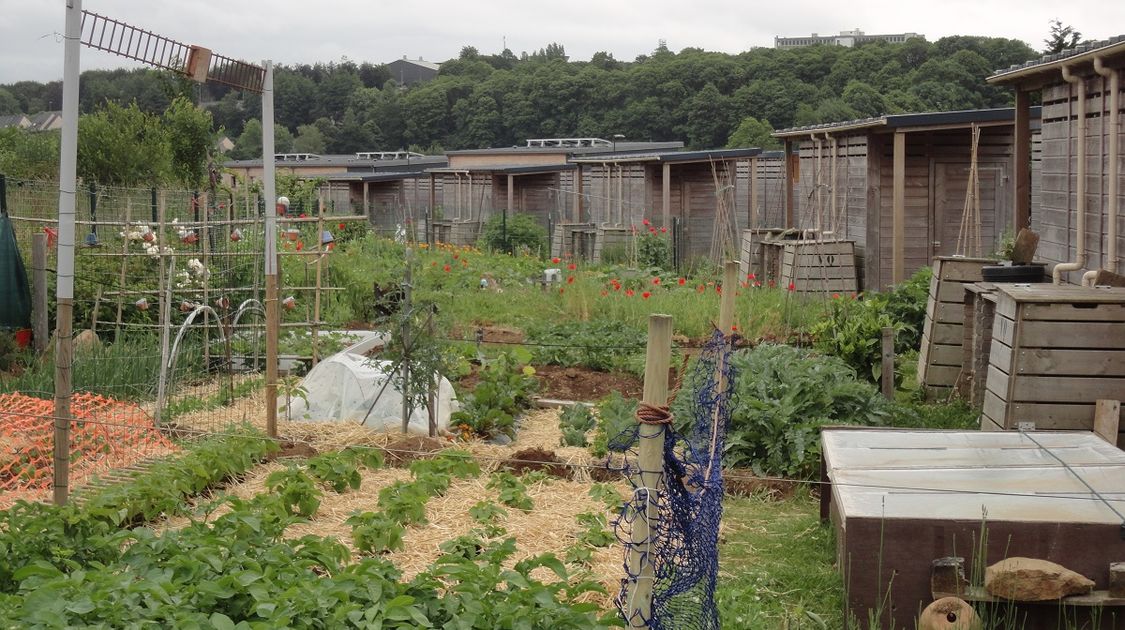
M 74 197 L 78 190 L 78 76 L 82 0 L 68 0 L 63 39 L 63 129 L 58 154 L 58 260 L 55 339 L 54 502 L 66 503 L 70 487 L 71 361 L 74 356 Z

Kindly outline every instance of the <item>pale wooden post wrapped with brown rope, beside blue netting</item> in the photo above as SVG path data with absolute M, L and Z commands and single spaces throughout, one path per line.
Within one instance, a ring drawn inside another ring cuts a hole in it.
M 645 396 L 642 402 L 664 406 L 668 404 L 668 368 L 672 361 L 672 316 L 650 315 L 648 318 L 648 350 L 645 358 Z M 655 567 L 652 555 L 642 548 L 652 543 L 649 539 L 650 522 L 659 518 L 658 501 L 664 476 L 664 424 L 641 424 L 637 478 L 633 480 L 636 495 L 649 498 L 644 514 L 633 521 L 630 542 L 632 547 L 626 559 L 626 568 L 631 578 L 626 598 L 626 622 L 630 628 L 647 628 L 646 620 L 652 616 L 652 579 Z

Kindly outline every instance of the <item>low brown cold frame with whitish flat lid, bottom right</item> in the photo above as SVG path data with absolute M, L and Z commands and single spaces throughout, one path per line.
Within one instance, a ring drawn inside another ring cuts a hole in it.
M 934 560 L 960 556 L 972 567 L 1024 556 L 1095 582 L 1092 598 L 1100 608 L 1068 601 L 1074 628 L 1119 628 L 1125 600 L 1107 588 L 1110 562 L 1125 558 L 1120 518 L 1113 511 L 1125 510 L 1125 453 L 1089 432 L 1034 435 L 1033 442 L 1015 432 L 825 429 L 822 476 L 829 486 L 821 492 L 820 515 L 836 530 L 847 612 L 861 620 L 874 613 L 872 628 L 912 629 L 935 598 Z M 986 530 L 989 542 L 978 558 Z M 1017 627 L 1070 628 L 1059 624 L 1058 604 L 1017 604 L 1025 620 Z

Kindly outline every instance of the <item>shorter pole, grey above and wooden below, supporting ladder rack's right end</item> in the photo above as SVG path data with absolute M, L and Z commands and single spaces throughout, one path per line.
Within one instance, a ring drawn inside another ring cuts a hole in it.
M 273 165 L 273 62 L 262 62 L 262 187 L 266 196 L 266 433 L 278 435 L 278 231 L 277 182 Z

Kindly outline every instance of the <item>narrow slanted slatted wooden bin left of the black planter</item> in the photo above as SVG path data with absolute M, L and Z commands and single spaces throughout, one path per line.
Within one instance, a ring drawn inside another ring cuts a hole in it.
M 918 352 L 918 385 L 927 397 L 943 397 L 957 382 L 964 363 L 965 286 L 981 281 L 983 258 L 937 256 L 929 281 L 926 322 Z

